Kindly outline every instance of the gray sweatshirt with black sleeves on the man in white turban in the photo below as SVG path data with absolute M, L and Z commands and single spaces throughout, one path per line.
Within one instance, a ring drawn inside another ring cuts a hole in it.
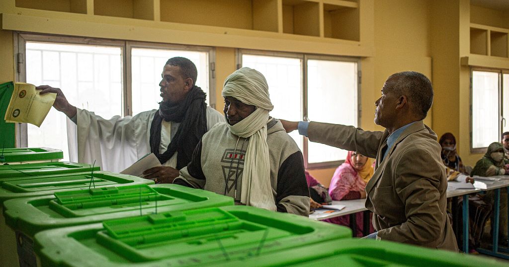
M 217 124 L 202 137 L 191 162 L 180 170 L 174 183 L 231 196 L 240 204 L 248 143 L 247 139 L 231 133 L 226 124 Z M 277 211 L 308 216 L 309 190 L 302 153 L 275 118 L 267 124 L 267 144 Z

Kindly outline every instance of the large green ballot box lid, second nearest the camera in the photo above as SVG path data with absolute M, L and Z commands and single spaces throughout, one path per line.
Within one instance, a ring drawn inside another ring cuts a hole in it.
M 253 257 L 351 234 L 347 227 L 236 205 L 46 230 L 35 240 L 43 265 L 176 266 Z

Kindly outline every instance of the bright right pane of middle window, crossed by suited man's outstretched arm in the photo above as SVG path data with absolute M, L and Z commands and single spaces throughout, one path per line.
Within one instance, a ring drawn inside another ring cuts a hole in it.
M 357 63 L 307 61 L 309 120 L 357 126 Z M 347 151 L 308 142 L 308 163 L 345 160 Z

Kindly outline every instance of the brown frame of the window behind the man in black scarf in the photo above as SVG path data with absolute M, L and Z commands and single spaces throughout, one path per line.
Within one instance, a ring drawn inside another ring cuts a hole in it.
M 100 46 L 116 46 L 121 48 L 122 57 L 122 116 L 132 115 L 132 84 L 131 84 L 131 49 L 132 48 L 148 48 L 148 49 L 164 49 L 164 50 L 188 50 L 207 52 L 208 70 L 209 70 L 209 106 L 215 108 L 215 48 L 210 46 L 193 46 L 178 45 L 169 43 L 152 43 L 129 40 L 116 40 L 106 38 L 88 38 L 76 36 L 63 36 L 51 34 L 37 34 L 29 32 L 14 32 L 14 72 L 15 80 L 26 82 L 26 42 L 45 42 L 45 43 L 62 43 L 77 45 L 100 45 Z M 214 92 L 214 94 L 210 94 Z M 28 128 L 26 123 L 16 123 L 15 136 L 16 147 L 28 146 Z

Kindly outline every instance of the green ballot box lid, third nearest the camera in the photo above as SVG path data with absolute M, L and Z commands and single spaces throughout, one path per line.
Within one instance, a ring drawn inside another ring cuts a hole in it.
M 104 220 L 234 205 L 231 197 L 173 184 L 129 185 L 58 192 L 4 202 L 6 223 L 33 236 L 44 229 Z M 141 209 L 140 209 L 141 206 Z

